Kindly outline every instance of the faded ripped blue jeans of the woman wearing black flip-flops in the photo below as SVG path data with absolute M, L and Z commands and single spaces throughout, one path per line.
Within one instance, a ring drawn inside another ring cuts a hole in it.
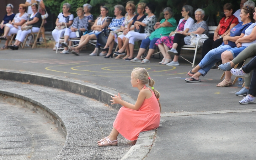
M 222 44 L 219 47 L 210 50 L 198 64 L 201 67 L 201 69 L 199 69 L 198 72 L 205 76 L 207 72 L 212 68 L 212 66 L 219 60 L 221 60 L 222 52 L 231 48 L 232 47 L 230 47 L 227 44 Z

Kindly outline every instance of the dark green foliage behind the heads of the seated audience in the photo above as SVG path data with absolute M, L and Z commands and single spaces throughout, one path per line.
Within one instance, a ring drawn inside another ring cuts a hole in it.
M 91 14 L 96 18 L 100 14 L 100 4 L 105 3 L 109 9 L 109 16 L 114 16 L 114 5 L 121 4 L 124 7 L 128 0 L 44 0 L 44 3 L 49 7 L 52 14 L 56 16 L 62 12 L 62 5 L 65 2 L 69 2 L 71 5 L 71 13 L 76 17 L 76 8 L 81 7 L 85 3 L 92 5 Z M 162 10 L 165 7 L 171 7 L 174 12 L 174 18 L 177 22 L 181 17 L 181 10 L 183 5 L 191 5 L 194 8 L 194 11 L 197 8 L 201 8 L 205 11 L 204 20 L 208 22 L 209 26 L 216 26 L 219 23 L 219 20 L 224 16 L 223 6 L 226 3 L 233 4 L 234 11 L 233 13 L 240 9 L 240 0 L 133 0 L 135 4 L 139 2 L 151 2 L 156 5 L 155 14 L 158 17 L 158 20 L 161 20 L 164 16 L 162 15 Z M 256 1 L 256 0 L 253 0 Z M 193 17 L 194 18 L 194 17 Z

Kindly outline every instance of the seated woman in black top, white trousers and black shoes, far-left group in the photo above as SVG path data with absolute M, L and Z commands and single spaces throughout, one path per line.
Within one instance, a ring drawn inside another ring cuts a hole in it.
M 41 27 L 42 17 L 41 17 L 41 14 L 37 12 L 38 5 L 36 3 L 33 3 L 31 5 L 31 9 L 33 13 L 30 15 L 30 18 L 28 19 L 28 21 L 21 26 L 21 28 L 26 27 L 28 25 L 32 25 L 32 28 L 24 31 L 18 30 L 17 36 L 15 38 L 16 40 L 15 43 L 12 46 L 9 46 L 12 50 L 18 49 L 18 46 L 20 46 L 20 44 L 24 42 L 24 39 L 29 33 L 38 32 Z

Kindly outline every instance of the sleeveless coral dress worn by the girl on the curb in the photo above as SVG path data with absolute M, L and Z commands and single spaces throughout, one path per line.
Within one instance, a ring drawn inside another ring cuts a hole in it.
M 144 89 L 149 89 L 144 85 Z M 150 89 L 149 89 L 150 90 Z M 128 140 L 137 140 L 142 131 L 159 127 L 160 107 L 152 90 L 152 96 L 145 99 L 138 111 L 121 107 L 113 127 Z

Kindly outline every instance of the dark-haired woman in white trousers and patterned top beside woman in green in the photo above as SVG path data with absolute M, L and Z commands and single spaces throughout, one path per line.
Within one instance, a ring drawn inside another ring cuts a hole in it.
M 151 3 L 146 4 L 145 12 L 146 14 L 148 14 L 148 16 L 146 16 L 146 18 L 144 18 L 142 22 L 134 22 L 134 27 L 136 27 L 137 29 L 139 29 L 140 26 L 144 27 L 144 33 L 129 31 L 125 36 L 126 39 L 123 43 L 123 47 L 119 48 L 119 50 L 117 52 L 114 52 L 114 54 L 125 54 L 124 51 L 129 44 L 130 57 L 128 58 L 132 59 L 134 42 L 145 39 L 146 36 L 149 36 L 154 31 L 154 25 L 156 23 L 156 16 L 154 15 L 155 5 Z

